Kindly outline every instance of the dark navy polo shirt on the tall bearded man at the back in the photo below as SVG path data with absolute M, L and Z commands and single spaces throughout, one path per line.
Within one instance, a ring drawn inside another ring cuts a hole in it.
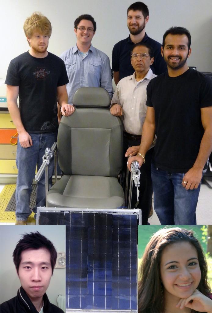
M 145 33 L 144 38 L 141 40 L 141 43 L 146 43 L 150 45 L 150 47 L 153 50 L 155 60 L 153 64 L 150 66 L 152 72 L 156 75 L 160 75 L 166 72 L 167 66 L 160 52 L 162 45 L 156 40 L 147 36 L 146 33 Z M 134 43 L 131 41 L 131 38 L 129 35 L 128 38 L 119 41 L 113 47 L 112 70 L 115 72 L 119 72 L 120 80 L 123 77 L 132 75 L 135 72 L 135 70 L 133 69 L 131 65 L 131 59 L 130 59 L 130 53 L 132 51 L 133 46 L 134 46 Z

